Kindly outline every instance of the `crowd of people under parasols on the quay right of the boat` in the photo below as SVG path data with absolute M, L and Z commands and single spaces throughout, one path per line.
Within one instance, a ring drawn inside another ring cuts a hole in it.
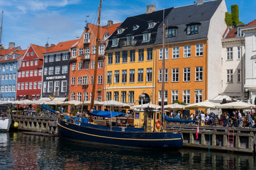
M 172 111 L 169 113 L 169 116 L 177 119 L 182 118 L 180 111 L 177 113 Z M 219 115 L 213 112 L 207 114 L 203 111 L 199 111 L 196 115 L 194 115 L 194 113 L 191 113 L 189 116 L 185 115 L 183 119 L 196 120 L 196 123 L 191 123 L 191 125 L 222 125 L 223 127 L 256 128 L 256 113 L 252 113 L 252 111 L 247 111 L 245 116 L 243 116 L 240 111 L 233 111 L 232 113 L 224 111 Z

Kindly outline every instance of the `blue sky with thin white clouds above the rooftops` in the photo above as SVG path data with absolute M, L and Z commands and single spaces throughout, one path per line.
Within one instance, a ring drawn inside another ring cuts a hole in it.
M 108 20 L 121 23 L 127 17 L 146 12 L 146 6 L 164 8 L 187 6 L 196 0 L 104 0 L 101 8 L 101 26 Z M 209 1 L 209 0 L 206 0 Z M 249 23 L 256 19 L 255 0 L 226 0 L 230 6 L 238 4 L 240 21 Z M 32 43 L 45 46 L 74 40 L 82 35 L 86 22 L 96 24 L 99 0 L 0 0 L 4 11 L 1 44 L 8 48 L 15 42 L 26 50 Z M 89 16 L 89 17 L 87 17 Z

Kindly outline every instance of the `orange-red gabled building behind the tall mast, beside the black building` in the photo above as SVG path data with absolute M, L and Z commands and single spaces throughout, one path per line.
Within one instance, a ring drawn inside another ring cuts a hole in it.
M 108 21 L 107 26 L 102 26 L 99 33 L 99 62 L 95 66 L 97 26 L 88 23 L 76 45 L 71 48 L 70 77 L 69 77 L 69 101 L 91 100 L 92 84 L 94 80 L 94 68 L 97 67 L 96 77 L 96 101 L 102 101 L 104 89 L 104 67 L 108 37 L 121 23 L 113 24 Z

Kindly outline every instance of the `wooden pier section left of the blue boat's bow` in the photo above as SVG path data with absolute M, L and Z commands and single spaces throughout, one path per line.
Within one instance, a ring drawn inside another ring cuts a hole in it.
M 17 122 L 18 130 L 58 134 L 57 118 L 40 116 L 12 115 L 12 125 Z

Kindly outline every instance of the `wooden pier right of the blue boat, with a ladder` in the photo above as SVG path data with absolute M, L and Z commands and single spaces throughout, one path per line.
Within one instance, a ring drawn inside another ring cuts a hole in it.
M 197 125 L 167 125 L 169 131 L 181 130 L 184 147 L 216 149 L 228 152 L 255 152 L 255 129 L 200 126 L 199 136 L 196 139 L 196 128 Z M 228 130 L 231 132 L 229 133 Z

